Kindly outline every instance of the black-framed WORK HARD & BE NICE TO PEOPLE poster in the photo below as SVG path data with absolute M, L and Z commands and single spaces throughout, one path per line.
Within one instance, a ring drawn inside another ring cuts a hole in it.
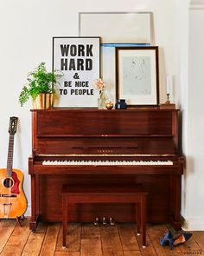
M 53 37 L 53 70 L 63 74 L 54 86 L 54 108 L 97 108 L 100 37 Z

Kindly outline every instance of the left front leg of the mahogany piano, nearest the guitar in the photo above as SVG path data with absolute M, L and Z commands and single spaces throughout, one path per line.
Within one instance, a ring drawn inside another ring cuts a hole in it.
M 35 232 L 39 222 L 39 174 L 31 174 L 31 218 L 29 229 Z

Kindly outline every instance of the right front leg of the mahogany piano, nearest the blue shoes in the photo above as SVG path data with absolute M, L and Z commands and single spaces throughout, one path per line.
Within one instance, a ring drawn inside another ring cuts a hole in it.
M 175 230 L 181 230 L 181 175 L 170 176 L 170 211 L 171 225 Z

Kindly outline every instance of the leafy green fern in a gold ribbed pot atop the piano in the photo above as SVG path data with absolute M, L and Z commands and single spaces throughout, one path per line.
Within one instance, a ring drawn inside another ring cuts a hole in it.
M 51 108 L 54 95 L 54 84 L 62 76 L 58 71 L 48 72 L 45 62 L 28 73 L 28 84 L 24 85 L 19 95 L 21 106 L 32 98 L 34 108 Z

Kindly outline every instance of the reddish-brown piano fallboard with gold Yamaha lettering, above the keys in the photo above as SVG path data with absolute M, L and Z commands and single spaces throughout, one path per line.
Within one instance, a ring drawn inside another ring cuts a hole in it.
M 172 135 L 41 137 L 37 145 L 35 154 L 175 154 Z

